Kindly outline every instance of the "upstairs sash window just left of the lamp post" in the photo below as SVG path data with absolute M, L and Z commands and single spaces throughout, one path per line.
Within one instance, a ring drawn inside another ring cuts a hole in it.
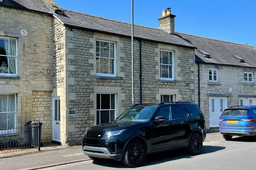
M 115 43 L 96 41 L 96 73 L 98 76 L 116 75 Z

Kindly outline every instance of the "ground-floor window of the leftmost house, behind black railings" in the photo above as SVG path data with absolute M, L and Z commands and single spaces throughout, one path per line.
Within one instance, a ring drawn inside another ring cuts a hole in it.
M 16 108 L 16 95 L 0 95 L 0 129 L 15 128 Z

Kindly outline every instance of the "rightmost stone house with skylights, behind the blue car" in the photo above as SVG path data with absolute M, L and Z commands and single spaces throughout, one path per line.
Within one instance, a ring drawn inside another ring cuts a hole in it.
M 255 47 L 184 33 L 178 35 L 197 47 L 196 103 L 205 114 L 207 129 L 218 129 L 219 116 L 225 108 L 256 105 Z

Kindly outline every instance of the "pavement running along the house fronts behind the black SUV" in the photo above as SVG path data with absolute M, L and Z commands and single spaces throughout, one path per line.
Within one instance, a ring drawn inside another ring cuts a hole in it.
M 205 143 L 219 139 L 222 139 L 220 133 L 209 133 L 207 134 Z M 209 147 L 206 147 L 206 149 L 207 148 Z M 89 160 L 89 158 L 83 154 L 81 146 L 68 147 L 64 149 L 60 147 L 42 148 L 42 150 L 43 151 L 33 154 L 0 158 L 0 167 L 5 167 L 4 170 L 37 169 Z

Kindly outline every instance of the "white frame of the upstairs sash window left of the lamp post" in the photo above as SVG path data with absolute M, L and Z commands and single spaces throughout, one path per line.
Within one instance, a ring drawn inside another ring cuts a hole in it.
M 114 60 L 114 74 L 97 73 L 97 65 L 96 65 L 96 75 L 99 77 L 116 77 L 116 43 L 113 41 L 101 40 L 101 39 L 96 39 L 96 41 L 114 44 L 114 58 L 97 56 L 97 51 L 95 53 L 96 54 L 95 59 L 96 58 L 105 58 L 108 60 Z M 95 41 L 95 43 L 96 43 L 96 41 Z M 95 44 L 95 49 L 97 50 L 96 44 Z M 110 46 L 109 46 L 109 53 L 110 53 Z M 109 54 L 109 56 L 110 56 L 110 54 Z M 109 66 L 110 66 L 110 64 L 108 64 L 108 71 L 110 70 Z M 99 70 L 100 70 L 100 62 L 99 62 Z

